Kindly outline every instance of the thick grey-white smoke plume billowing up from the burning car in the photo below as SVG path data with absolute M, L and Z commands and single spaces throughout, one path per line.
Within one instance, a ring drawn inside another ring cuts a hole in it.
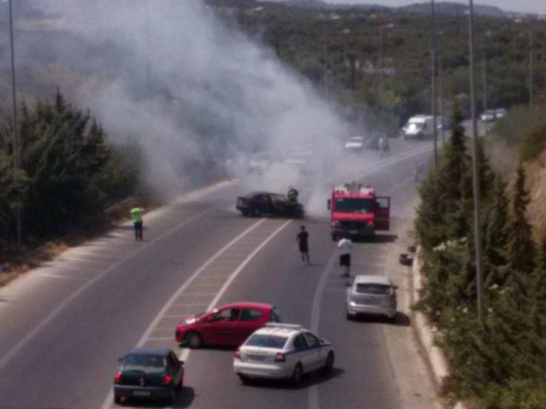
M 226 167 L 247 175 L 255 153 L 267 151 L 271 160 L 245 178 L 247 189 L 308 187 L 311 200 L 311 187 L 339 162 L 350 127 L 271 50 L 228 28 L 200 1 L 36 6 L 67 36 L 44 47 L 58 64 L 85 73 L 70 89 L 63 89 L 70 76 L 59 77 L 61 92 L 89 107 L 112 136 L 139 143 L 146 181 L 158 192 L 176 194 Z M 80 49 L 82 39 L 88 45 Z M 323 207 L 323 198 L 311 202 Z

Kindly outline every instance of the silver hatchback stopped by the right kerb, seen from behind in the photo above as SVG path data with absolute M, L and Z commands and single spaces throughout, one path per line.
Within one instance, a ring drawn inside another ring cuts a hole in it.
M 396 317 L 396 289 L 385 276 L 356 276 L 347 289 L 347 318 L 356 315 L 385 315 Z

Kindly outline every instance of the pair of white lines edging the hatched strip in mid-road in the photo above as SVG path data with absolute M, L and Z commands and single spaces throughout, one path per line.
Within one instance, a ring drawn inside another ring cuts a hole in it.
M 190 278 L 188 278 L 188 280 L 186 280 L 186 282 L 183 283 L 183 285 L 180 288 L 178 288 L 178 290 L 176 290 L 176 292 L 171 296 L 171 298 L 168 299 L 168 301 L 166 302 L 164 307 L 161 308 L 161 311 L 159 311 L 159 314 L 156 315 L 156 317 L 154 318 L 154 320 L 152 320 L 151 324 L 146 329 L 146 331 L 144 332 L 142 337 L 139 339 L 139 342 L 137 343 L 137 347 L 142 347 L 144 344 L 146 344 L 146 342 L 148 342 L 151 339 L 151 334 L 152 334 L 152 332 L 154 332 L 154 329 L 157 327 L 159 322 L 161 320 L 163 320 L 164 318 L 168 317 L 166 315 L 166 312 L 174 305 L 174 302 L 176 302 L 176 300 L 178 300 L 178 298 L 183 296 L 182 293 L 184 292 L 184 290 L 186 290 L 186 288 L 188 288 L 191 285 L 191 283 L 193 283 L 193 280 L 196 280 L 196 278 L 198 278 L 200 273 L 202 273 L 203 271 L 206 270 L 206 268 L 208 268 L 210 263 L 213 263 L 214 261 L 216 261 L 216 259 L 219 258 L 220 256 L 222 256 L 225 251 L 228 251 L 230 249 L 230 247 L 232 247 L 235 243 L 237 243 L 237 241 L 239 241 L 240 239 L 245 237 L 247 234 L 249 234 L 251 231 L 256 229 L 260 224 L 264 223 L 265 220 L 266 219 L 260 219 L 255 224 L 252 224 L 251 227 L 249 227 L 248 229 L 243 231 L 241 234 L 239 234 L 239 236 L 235 237 L 235 239 L 230 241 L 222 249 L 220 249 L 218 252 L 216 252 L 211 258 L 208 259 L 208 261 L 206 261 L 203 264 L 203 266 L 200 266 L 200 268 L 198 268 L 198 270 L 195 271 L 190 276 Z M 220 290 L 218 291 L 217 294 L 215 294 L 216 295 L 215 298 L 212 300 L 212 302 L 210 302 L 210 304 L 206 308 L 207 311 L 210 311 L 215 307 L 218 300 L 220 300 L 220 298 L 228 290 L 228 288 L 229 288 L 230 284 L 232 283 L 232 281 L 235 280 L 235 278 L 237 278 L 237 276 L 240 274 L 240 272 L 243 270 L 243 268 L 245 268 L 245 266 L 247 266 L 247 264 L 250 263 L 252 258 L 254 258 L 256 256 L 256 254 L 260 250 L 262 250 L 264 248 L 264 246 L 266 246 L 269 243 L 269 241 L 272 241 L 272 239 L 274 239 L 274 237 L 277 236 L 277 234 L 279 234 L 282 231 L 282 229 L 287 227 L 291 223 L 291 221 L 292 221 L 291 219 L 287 220 L 279 228 L 274 230 L 272 232 L 272 234 L 269 234 L 267 239 L 265 241 L 263 241 L 262 244 L 257 246 L 254 249 L 254 251 L 252 251 L 252 253 L 250 253 L 249 256 L 247 256 L 247 258 L 245 258 L 245 260 L 242 261 L 242 263 L 240 263 L 240 265 L 235 269 L 235 271 L 230 273 L 230 276 L 228 277 L 228 280 L 226 280 L 223 287 L 220 288 Z M 178 317 L 178 315 L 176 317 Z M 172 337 L 170 339 L 172 340 Z M 189 355 L 190 355 L 190 350 L 184 348 L 183 351 L 181 352 L 181 354 L 179 354 L 178 359 L 180 359 L 181 361 L 187 361 Z M 113 389 L 110 389 L 110 391 L 108 393 L 108 396 L 105 399 L 105 402 L 102 403 L 101 409 L 112 408 L 113 398 L 114 398 L 114 392 L 113 392 Z

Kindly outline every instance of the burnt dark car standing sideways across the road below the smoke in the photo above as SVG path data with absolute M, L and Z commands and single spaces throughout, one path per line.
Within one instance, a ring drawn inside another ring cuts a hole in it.
M 301 203 L 291 204 L 284 195 L 269 192 L 251 192 L 237 197 L 235 208 L 244 216 L 268 214 L 284 217 L 304 217 L 304 206 Z

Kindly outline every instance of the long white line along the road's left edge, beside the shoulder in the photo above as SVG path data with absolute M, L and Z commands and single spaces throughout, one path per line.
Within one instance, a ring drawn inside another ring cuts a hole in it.
M 199 214 L 196 214 L 196 216 L 191 217 L 190 219 L 187 219 L 184 222 L 177 224 L 175 227 L 173 227 L 172 229 L 166 231 L 164 234 L 159 236 L 160 239 L 170 236 L 181 227 L 186 226 L 186 224 L 190 224 L 191 222 L 196 221 L 200 217 L 205 216 L 205 214 L 207 214 L 208 212 L 210 212 L 210 208 L 206 209 L 203 212 L 200 212 Z M 70 305 L 76 298 L 82 295 L 82 293 L 84 293 L 87 289 L 89 289 L 95 283 L 98 283 L 102 278 L 105 278 L 105 276 L 107 276 L 109 273 L 112 273 L 112 271 L 114 271 L 116 268 L 121 266 L 123 263 L 129 261 L 131 258 L 139 254 L 141 251 L 143 251 L 144 249 L 147 249 L 149 246 L 152 246 L 154 244 L 155 244 L 155 241 L 149 241 L 148 243 L 145 243 L 144 245 L 135 247 L 136 250 L 132 251 L 132 253 L 127 254 L 127 256 L 117 261 L 117 263 L 112 264 L 112 266 L 102 271 L 102 273 L 90 279 L 80 288 L 75 290 L 74 293 L 68 296 L 68 298 L 65 298 L 65 300 L 63 300 L 63 302 L 61 302 L 57 307 L 55 307 L 53 311 L 51 311 L 48 315 L 46 315 L 43 318 L 43 320 L 41 320 L 38 323 L 38 325 L 36 325 L 36 327 L 34 327 L 30 332 L 28 332 L 19 342 L 17 342 L 17 344 L 14 345 L 14 347 L 11 347 L 11 349 L 4 356 L 0 358 L 0 371 L 3 371 L 4 368 L 11 362 L 11 360 L 14 359 L 16 354 L 18 354 L 18 352 L 21 351 L 21 349 L 26 347 L 26 345 L 29 342 L 31 342 L 31 340 L 34 337 L 36 337 L 36 335 L 39 334 L 42 331 L 42 329 L 45 328 L 46 325 L 48 325 L 51 321 L 53 321 L 55 317 L 57 317 L 61 312 L 63 312 L 63 310 L 65 310 L 65 308 L 68 307 L 68 305 Z

